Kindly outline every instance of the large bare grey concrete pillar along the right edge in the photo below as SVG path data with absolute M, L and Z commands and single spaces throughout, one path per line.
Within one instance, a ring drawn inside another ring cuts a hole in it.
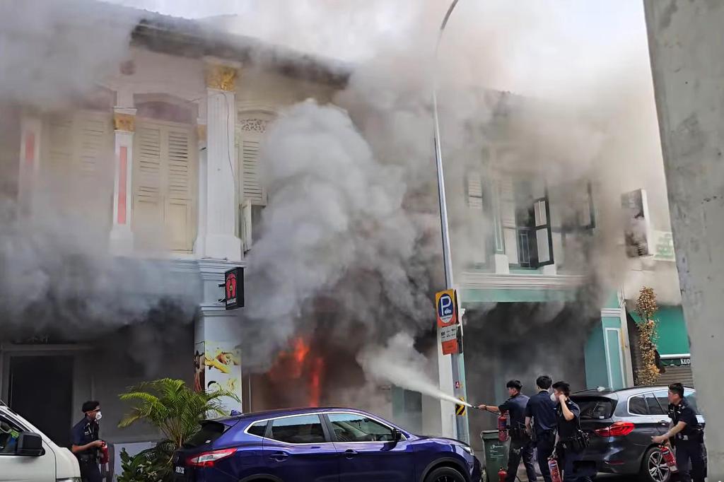
M 724 475 L 724 56 L 722 1 L 645 0 L 681 300 L 709 480 Z

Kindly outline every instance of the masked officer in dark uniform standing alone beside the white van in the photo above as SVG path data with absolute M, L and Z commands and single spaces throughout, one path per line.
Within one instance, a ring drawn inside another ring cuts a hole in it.
M 80 464 L 80 478 L 83 482 L 101 482 L 100 449 L 105 442 L 98 438 L 98 420 L 101 420 L 101 404 L 89 400 L 83 404 L 83 420 L 72 428 L 70 439 L 71 451 Z

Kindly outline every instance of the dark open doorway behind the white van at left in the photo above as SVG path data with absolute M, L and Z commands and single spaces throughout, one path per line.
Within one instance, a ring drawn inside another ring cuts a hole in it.
M 8 405 L 60 447 L 70 447 L 73 357 L 12 355 Z

